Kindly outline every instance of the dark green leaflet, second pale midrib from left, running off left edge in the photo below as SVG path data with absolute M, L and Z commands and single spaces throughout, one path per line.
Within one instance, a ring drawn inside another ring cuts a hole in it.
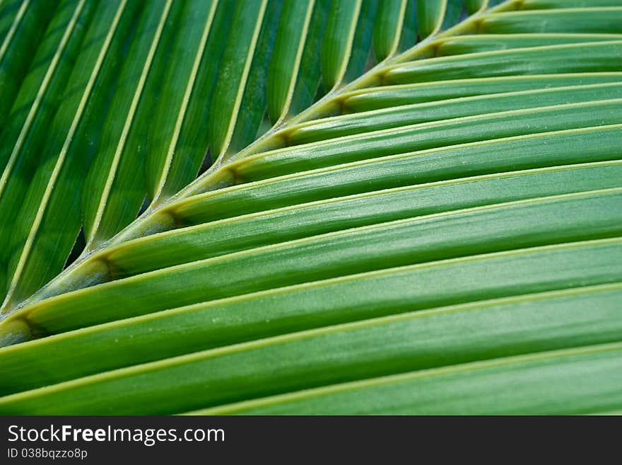
M 13 222 L 28 192 L 30 176 L 37 165 L 47 162 L 41 156 L 42 144 L 61 103 L 64 86 L 94 10 L 95 5 L 86 0 L 61 3 L 33 60 L 33 67 L 20 87 L 10 123 L 2 133 L 0 159 L 4 161 L 4 170 L 0 176 L 0 241 L 4 246 L 0 249 L 0 267 L 4 279 L 0 279 L 0 296 L 3 299 L 16 267 L 14 257 L 23 246 L 20 241 L 23 231 L 13 239 Z M 40 185 L 34 188 L 40 189 Z M 28 227 L 30 218 L 23 220 L 18 227 Z

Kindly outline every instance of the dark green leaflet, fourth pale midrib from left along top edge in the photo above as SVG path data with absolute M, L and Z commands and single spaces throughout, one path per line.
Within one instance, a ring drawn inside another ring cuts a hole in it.
M 100 147 L 85 181 L 89 188 L 82 197 L 87 250 L 129 224 L 145 197 L 144 141 L 139 128 L 151 117 L 155 83 L 165 68 L 155 55 L 166 55 L 176 27 L 170 19 L 181 5 L 172 4 L 172 0 L 147 2 L 119 75 Z

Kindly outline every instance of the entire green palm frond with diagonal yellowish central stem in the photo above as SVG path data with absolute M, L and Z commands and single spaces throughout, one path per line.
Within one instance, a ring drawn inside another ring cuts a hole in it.
M 619 0 L 38 3 L 1 413 L 622 408 Z

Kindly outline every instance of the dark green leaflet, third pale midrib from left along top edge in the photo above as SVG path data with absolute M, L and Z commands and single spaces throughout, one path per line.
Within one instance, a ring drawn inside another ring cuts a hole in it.
M 61 271 L 81 227 L 81 185 L 92 146 L 114 84 L 114 64 L 122 56 L 134 5 L 108 1 L 93 16 L 84 40 L 91 44 L 76 59 L 64 98 L 42 146 L 39 165 L 12 231 L 8 289 L 13 302 L 28 297 Z

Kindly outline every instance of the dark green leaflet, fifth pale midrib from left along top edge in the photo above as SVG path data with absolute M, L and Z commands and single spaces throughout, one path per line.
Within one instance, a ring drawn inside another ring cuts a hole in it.
M 170 50 L 155 122 L 150 125 L 145 143 L 149 193 L 154 201 L 160 195 L 172 195 L 189 183 L 199 171 L 207 140 L 201 127 L 203 118 L 198 102 L 209 101 L 216 74 L 218 44 L 212 30 L 216 5 L 214 1 L 189 1 L 175 21 L 177 36 Z M 216 28 L 223 28 L 228 16 L 225 2 L 219 11 Z

